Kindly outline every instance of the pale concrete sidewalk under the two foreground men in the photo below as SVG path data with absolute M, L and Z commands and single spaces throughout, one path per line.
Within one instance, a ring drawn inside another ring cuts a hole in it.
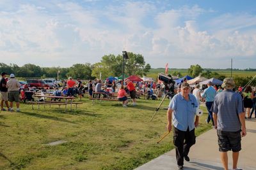
M 247 135 L 242 138 L 242 150 L 239 153 L 237 167 L 243 170 L 256 169 L 256 119 L 246 120 Z M 218 151 L 218 139 L 215 129 L 205 132 L 196 138 L 196 144 L 189 152 L 190 162 L 184 160 L 184 169 L 223 169 L 220 152 Z M 228 152 L 228 167 L 232 169 L 232 152 Z M 177 169 L 175 149 L 151 160 L 136 170 L 172 170 Z

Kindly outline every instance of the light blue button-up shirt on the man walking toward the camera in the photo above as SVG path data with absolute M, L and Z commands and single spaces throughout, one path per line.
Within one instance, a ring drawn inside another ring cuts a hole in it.
M 173 110 L 172 123 L 180 131 L 189 131 L 195 129 L 195 113 L 198 108 L 196 97 L 189 94 L 189 100 L 186 101 L 181 92 L 173 96 L 169 108 Z

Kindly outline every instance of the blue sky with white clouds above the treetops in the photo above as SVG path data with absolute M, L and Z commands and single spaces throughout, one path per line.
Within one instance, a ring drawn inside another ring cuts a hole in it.
M 256 68 L 256 1 L 0 1 L 5 64 L 70 67 L 123 50 L 153 68 Z

